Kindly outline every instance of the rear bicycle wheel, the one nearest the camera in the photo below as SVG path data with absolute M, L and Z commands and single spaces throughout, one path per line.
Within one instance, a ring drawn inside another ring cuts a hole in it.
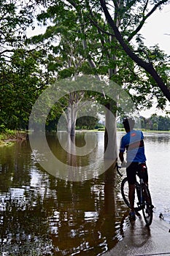
M 143 200 L 143 207 L 142 207 L 142 214 L 144 217 L 144 221 L 146 222 L 147 226 L 150 226 L 152 223 L 153 211 L 152 211 L 152 199 L 150 196 L 150 190 L 148 189 L 146 184 L 142 184 L 142 197 Z

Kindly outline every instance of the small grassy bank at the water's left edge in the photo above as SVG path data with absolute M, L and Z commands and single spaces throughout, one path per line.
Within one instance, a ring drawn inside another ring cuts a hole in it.
M 9 145 L 17 140 L 26 140 L 26 135 L 24 131 L 5 129 L 0 133 L 0 146 Z

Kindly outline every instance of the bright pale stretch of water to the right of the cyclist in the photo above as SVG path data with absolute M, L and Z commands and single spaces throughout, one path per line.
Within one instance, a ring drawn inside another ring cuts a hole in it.
M 170 133 L 145 134 L 150 190 L 155 214 L 170 222 Z

